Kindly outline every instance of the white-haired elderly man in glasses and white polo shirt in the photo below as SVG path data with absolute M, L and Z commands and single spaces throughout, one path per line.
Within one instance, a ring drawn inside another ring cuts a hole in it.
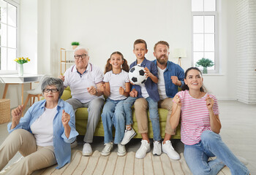
M 75 65 L 71 66 L 60 78 L 64 86 L 69 86 L 72 98 L 67 102 L 73 109 L 81 107 L 88 108 L 88 123 L 86 135 L 83 141 L 83 155 L 91 155 L 90 143 L 93 141 L 94 131 L 99 123 L 100 112 L 104 105 L 102 92 L 97 88 L 102 84 L 103 72 L 93 64 L 89 63 L 89 52 L 83 47 L 77 47 L 74 51 Z

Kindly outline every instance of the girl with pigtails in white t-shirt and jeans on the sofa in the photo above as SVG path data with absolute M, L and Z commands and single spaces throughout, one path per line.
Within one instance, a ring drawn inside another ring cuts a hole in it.
M 128 77 L 129 66 L 121 52 L 113 52 L 105 66 L 104 85 L 99 90 L 103 91 L 108 99 L 102 111 L 102 123 L 104 127 L 105 148 L 102 155 L 110 155 L 113 149 L 112 127 L 116 128 L 114 144 L 118 144 L 118 156 L 126 155 L 121 140 L 124 137 L 125 115 L 124 99 L 129 96 L 130 84 Z

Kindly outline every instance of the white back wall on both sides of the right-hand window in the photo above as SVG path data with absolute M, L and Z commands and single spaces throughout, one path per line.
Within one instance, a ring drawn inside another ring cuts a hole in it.
M 207 75 L 204 79 L 206 88 L 217 98 L 233 100 L 236 99 L 236 54 L 233 52 L 236 49 L 236 19 L 230 17 L 235 14 L 235 5 L 232 0 L 219 2 L 219 58 L 222 75 Z M 148 44 L 146 58 L 149 60 L 154 60 L 154 44 L 165 40 L 171 48 L 170 61 L 177 63 L 177 59 L 172 58 L 173 48 L 184 48 L 188 56 L 182 59 L 182 67 L 185 70 L 192 66 L 190 0 L 160 0 L 157 3 L 147 0 L 62 0 L 58 13 L 61 18 L 58 20 L 59 40 L 56 45 L 70 49 L 72 41 L 80 42 L 89 48 L 91 62 L 101 69 L 104 69 L 111 52 L 116 50 L 124 54 L 128 63 L 135 61 L 133 42 L 139 38 L 145 39 Z

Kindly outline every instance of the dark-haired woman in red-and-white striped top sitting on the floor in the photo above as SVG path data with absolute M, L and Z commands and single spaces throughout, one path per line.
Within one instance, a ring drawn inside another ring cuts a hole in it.
M 176 128 L 181 117 L 184 157 L 192 174 L 217 174 L 224 166 L 231 174 L 249 174 L 219 136 L 217 98 L 205 92 L 201 71 L 196 67 L 187 69 L 184 82 L 182 91 L 173 98 L 170 125 Z M 217 159 L 208 161 L 214 156 Z

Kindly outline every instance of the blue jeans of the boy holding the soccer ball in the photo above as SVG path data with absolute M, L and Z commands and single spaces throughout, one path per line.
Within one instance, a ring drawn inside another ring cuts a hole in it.
M 128 121 L 129 123 L 132 123 L 132 109 L 131 109 L 131 107 L 132 107 L 132 104 L 134 104 L 136 99 L 137 99 L 137 97 L 129 97 L 124 101 L 125 117 L 126 117 L 126 121 Z M 149 118 L 151 120 L 152 130 L 153 130 L 153 133 L 154 133 L 154 141 L 160 141 L 162 138 L 161 138 L 161 134 L 160 134 L 158 103 L 157 103 L 157 101 L 154 101 L 150 97 L 146 98 L 146 101 L 148 101 Z M 139 117 L 140 116 L 136 116 L 137 119 Z M 129 124 L 127 124 L 127 125 L 129 125 Z

